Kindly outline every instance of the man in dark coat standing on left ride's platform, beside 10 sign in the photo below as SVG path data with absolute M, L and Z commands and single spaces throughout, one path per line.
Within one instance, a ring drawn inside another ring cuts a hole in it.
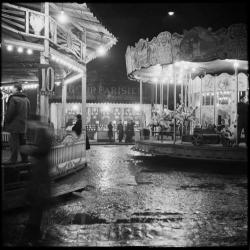
M 7 112 L 5 116 L 5 129 L 10 133 L 11 157 L 5 164 L 15 164 L 18 160 L 20 145 L 25 145 L 27 132 L 27 119 L 30 112 L 30 101 L 22 93 L 21 83 L 14 85 L 14 93 L 7 102 Z M 25 154 L 20 154 L 22 162 L 28 162 Z

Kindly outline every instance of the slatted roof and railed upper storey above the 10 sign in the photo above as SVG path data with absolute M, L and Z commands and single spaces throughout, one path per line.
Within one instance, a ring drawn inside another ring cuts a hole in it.
M 1 83 L 38 81 L 40 52 L 44 50 L 44 4 L 3 3 Z M 64 24 L 58 15 L 64 11 Z M 117 39 L 91 13 L 86 3 L 49 3 L 50 52 L 75 67 L 88 63 L 98 55 L 98 48 L 109 50 Z M 18 51 L 22 47 L 22 51 Z M 28 52 L 28 49 L 32 53 Z M 50 60 L 56 79 L 70 74 L 69 67 Z M 77 72 L 77 70 L 75 71 Z

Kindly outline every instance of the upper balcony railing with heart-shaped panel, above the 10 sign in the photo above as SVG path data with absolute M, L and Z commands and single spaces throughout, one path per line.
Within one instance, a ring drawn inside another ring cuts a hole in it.
M 25 36 L 45 39 L 45 14 L 9 3 L 1 9 L 2 28 Z M 58 48 L 84 60 L 86 44 L 49 17 L 49 41 Z

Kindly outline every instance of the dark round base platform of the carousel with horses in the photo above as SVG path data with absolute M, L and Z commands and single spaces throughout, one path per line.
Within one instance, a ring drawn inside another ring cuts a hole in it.
M 242 162 L 248 160 L 247 146 L 240 143 L 237 147 L 224 147 L 221 144 L 204 144 L 194 146 L 191 142 L 177 140 L 138 140 L 135 142 L 134 150 L 152 155 L 168 156 L 179 159 Z

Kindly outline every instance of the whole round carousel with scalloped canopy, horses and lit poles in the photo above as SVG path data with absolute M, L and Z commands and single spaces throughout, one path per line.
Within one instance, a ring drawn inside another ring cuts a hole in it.
M 246 131 L 237 129 L 237 104 L 242 96 L 248 103 L 249 92 L 245 24 L 165 31 L 128 46 L 125 58 L 129 79 L 155 85 L 150 136 L 144 128 L 135 149 L 247 161 Z

